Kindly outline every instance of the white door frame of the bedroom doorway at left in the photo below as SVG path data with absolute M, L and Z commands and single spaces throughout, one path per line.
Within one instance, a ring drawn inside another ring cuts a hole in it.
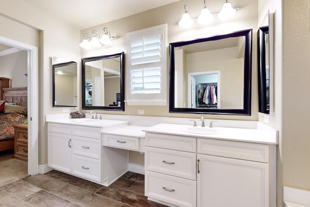
M 27 51 L 28 174 L 39 173 L 38 48 L 0 36 L 0 43 Z

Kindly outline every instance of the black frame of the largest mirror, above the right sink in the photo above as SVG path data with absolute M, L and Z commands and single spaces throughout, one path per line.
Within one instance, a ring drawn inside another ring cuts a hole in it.
M 245 58 L 244 58 L 244 98 L 243 109 L 197 109 L 197 108 L 175 108 L 174 107 L 174 48 L 195 43 L 221 40 L 229 37 L 245 36 Z M 231 32 L 206 38 L 194 39 L 170 43 L 170 90 L 169 90 L 169 112 L 170 113 L 203 113 L 222 115 L 251 115 L 251 71 L 252 71 L 252 29 Z

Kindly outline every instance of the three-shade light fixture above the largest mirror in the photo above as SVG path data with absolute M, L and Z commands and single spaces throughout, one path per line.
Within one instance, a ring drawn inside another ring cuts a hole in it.
M 184 8 L 185 8 L 185 13 L 183 14 L 182 19 L 179 21 L 178 24 L 181 28 L 187 29 L 193 25 L 193 19 L 190 18 L 189 14 L 187 13 L 186 5 L 184 5 Z M 228 20 L 236 14 L 236 10 L 238 9 L 240 9 L 240 7 L 233 8 L 232 4 L 226 0 L 220 12 L 211 14 L 209 9 L 206 6 L 206 0 L 204 0 L 204 7 L 202 9 L 202 12 L 200 16 L 195 19 L 197 19 L 198 23 L 201 25 L 206 25 L 210 23 L 213 20 L 214 15 L 217 15 L 217 17 L 220 20 Z

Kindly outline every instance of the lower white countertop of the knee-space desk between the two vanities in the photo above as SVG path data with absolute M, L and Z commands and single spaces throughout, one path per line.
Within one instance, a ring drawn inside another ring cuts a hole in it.
M 148 127 L 142 127 L 142 126 L 136 126 L 136 125 L 130 125 L 127 127 L 121 127 L 113 130 L 109 130 L 106 132 L 103 132 L 104 134 L 112 134 L 112 135 L 122 135 L 126 137 L 138 137 L 138 138 L 144 138 L 145 132 L 142 131 Z

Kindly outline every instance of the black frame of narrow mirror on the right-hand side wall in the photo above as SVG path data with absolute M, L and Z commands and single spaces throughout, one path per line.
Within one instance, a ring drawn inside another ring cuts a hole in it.
M 269 26 L 260 27 L 257 31 L 258 111 L 266 114 L 269 114 L 269 109 L 267 108 L 266 59 L 265 59 L 267 49 L 265 47 L 265 34 L 268 33 L 269 33 Z

